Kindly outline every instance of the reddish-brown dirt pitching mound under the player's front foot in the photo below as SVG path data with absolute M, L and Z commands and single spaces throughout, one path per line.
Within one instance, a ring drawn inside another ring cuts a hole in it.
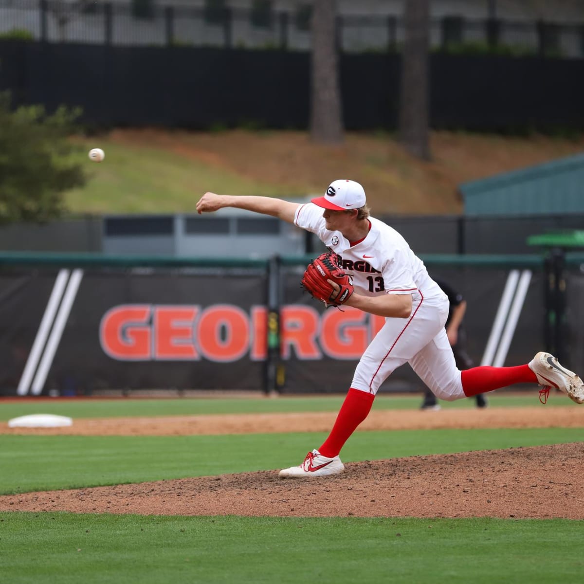
M 346 464 L 345 474 L 276 471 L 0 497 L 0 510 L 294 517 L 584 519 L 584 443 Z

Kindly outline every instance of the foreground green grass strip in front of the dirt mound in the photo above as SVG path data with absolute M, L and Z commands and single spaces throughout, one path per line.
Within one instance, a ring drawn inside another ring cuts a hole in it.
M 581 582 L 570 520 L 0 513 L 11 584 Z

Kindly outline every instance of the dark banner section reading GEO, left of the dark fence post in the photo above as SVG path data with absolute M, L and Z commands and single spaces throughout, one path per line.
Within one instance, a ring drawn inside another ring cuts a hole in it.
M 2 394 L 261 390 L 264 270 L 3 270 Z

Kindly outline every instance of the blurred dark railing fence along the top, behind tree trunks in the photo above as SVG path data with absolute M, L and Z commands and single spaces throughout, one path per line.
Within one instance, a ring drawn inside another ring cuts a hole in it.
M 276 11 L 272 4 L 228 8 L 221 3 L 191 7 L 148 2 L 0 0 L 0 38 L 310 50 L 310 9 L 300 5 L 293 11 Z M 404 20 L 398 15 L 339 15 L 337 29 L 339 48 L 355 53 L 399 51 L 405 34 Z M 433 50 L 449 53 L 583 58 L 584 22 L 442 16 L 430 19 L 430 44 Z

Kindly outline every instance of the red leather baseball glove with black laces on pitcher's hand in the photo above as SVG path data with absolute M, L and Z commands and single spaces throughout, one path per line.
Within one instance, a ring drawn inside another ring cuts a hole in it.
M 340 286 L 338 294 L 327 280 Z M 321 253 L 308 264 L 300 285 L 327 307 L 345 304 L 354 291 L 350 276 L 340 267 L 340 256 L 332 252 Z

